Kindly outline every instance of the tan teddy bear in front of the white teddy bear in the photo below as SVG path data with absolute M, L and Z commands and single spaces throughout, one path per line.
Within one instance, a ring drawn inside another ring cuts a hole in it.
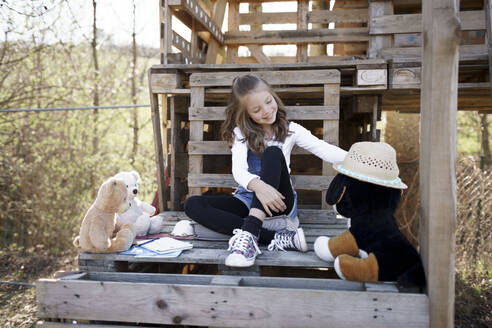
M 125 183 L 115 178 L 104 182 L 82 221 L 79 236 L 73 241 L 75 247 L 90 253 L 114 253 L 130 248 L 135 239 L 133 225 L 121 225 L 114 214 L 123 213 L 129 207 Z

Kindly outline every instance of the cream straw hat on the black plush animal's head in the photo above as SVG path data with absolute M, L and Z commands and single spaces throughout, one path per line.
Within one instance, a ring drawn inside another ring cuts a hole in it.
M 357 180 L 396 189 L 407 188 L 398 177 L 396 152 L 384 142 L 354 143 L 343 162 L 334 163 L 333 168 Z

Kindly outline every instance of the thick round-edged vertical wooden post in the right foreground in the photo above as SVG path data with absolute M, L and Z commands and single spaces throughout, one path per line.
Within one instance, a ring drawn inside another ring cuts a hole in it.
M 420 245 L 430 327 L 454 327 L 459 1 L 422 1 Z

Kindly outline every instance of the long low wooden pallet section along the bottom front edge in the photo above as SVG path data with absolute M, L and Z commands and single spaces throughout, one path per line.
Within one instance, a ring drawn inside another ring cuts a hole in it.
M 69 273 L 36 282 L 38 327 L 428 327 L 428 298 L 333 279 Z M 57 322 L 64 321 L 64 322 Z M 68 323 L 67 323 L 68 321 Z

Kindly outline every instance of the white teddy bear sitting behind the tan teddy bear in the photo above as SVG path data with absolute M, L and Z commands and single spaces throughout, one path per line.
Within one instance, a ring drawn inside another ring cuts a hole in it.
M 133 223 L 137 236 L 152 235 L 161 232 L 162 217 L 154 214 L 155 207 L 142 202 L 137 198 L 138 183 L 140 175 L 136 171 L 120 172 L 114 176 L 116 179 L 121 179 L 125 182 L 128 191 L 128 199 L 130 200 L 130 208 L 120 214 L 116 214 L 121 223 Z

